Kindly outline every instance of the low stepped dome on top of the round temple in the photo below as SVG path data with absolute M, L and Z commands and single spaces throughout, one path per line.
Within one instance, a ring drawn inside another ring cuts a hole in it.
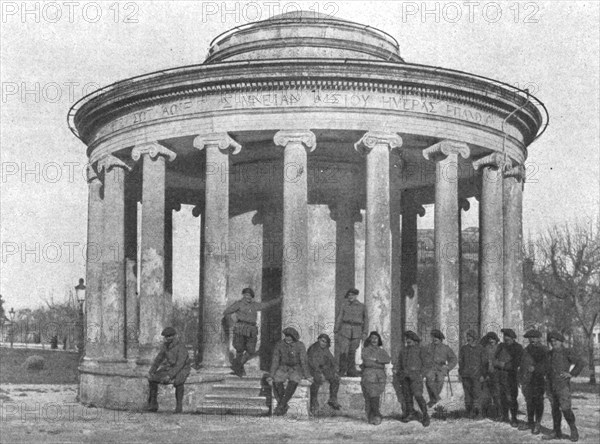
M 404 62 L 398 42 L 379 29 L 316 11 L 292 11 L 217 36 L 204 63 L 289 58 Z

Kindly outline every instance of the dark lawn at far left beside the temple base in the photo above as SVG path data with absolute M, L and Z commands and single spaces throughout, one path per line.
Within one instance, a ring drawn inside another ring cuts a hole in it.
M 25 360 L 39 355 L 45 360 L 41 370 L 27 370 Z M 2 384 L 77 384 L 79 354 L 55 350 L 11 349 L 0 347 Z

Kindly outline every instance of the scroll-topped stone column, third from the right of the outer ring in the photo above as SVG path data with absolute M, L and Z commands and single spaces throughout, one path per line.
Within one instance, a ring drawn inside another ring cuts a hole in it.
M 467 144 L 444 140 L 423 151 L 436 162 L 435 169 L 435 266 L 436 293 L 432 327 L 446 335 L 448 344 L 458 353 L 459 316 L 459 226 L 458 226 L 458 155 L 467 158 Z

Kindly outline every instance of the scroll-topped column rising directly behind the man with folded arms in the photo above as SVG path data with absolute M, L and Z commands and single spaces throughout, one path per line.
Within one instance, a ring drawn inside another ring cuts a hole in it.
M 365 305 L 369 330 L 381 334 L 391 353 L 392 239 L 390 150 L 402 146 L 395 133 L 368 132 L 354 148 L 366 157 Z

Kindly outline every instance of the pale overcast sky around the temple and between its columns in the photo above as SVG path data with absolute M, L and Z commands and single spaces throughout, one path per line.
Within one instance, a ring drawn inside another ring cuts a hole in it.
M 386 31 L 407 62 L 530 88 L 550 125 L 529 147 L 525 235 L 598 217 L 598 3 L 224 4 L 2 2 L 0 291 L 7 308 L 62 300 L 85 275 L 86 155 L 67 127 L 71 105 L 118 80 L 201 63 L 219 33 L 300 7 Z M 477 223 L 476 213 L 469 211 L 467 225 Z M 176 217 L 177 248 L 197 219 Z M 431 224 L 429 211 L 421 226 Z M 177 271 L 175 279 L 176 299 L 197 285 Z

